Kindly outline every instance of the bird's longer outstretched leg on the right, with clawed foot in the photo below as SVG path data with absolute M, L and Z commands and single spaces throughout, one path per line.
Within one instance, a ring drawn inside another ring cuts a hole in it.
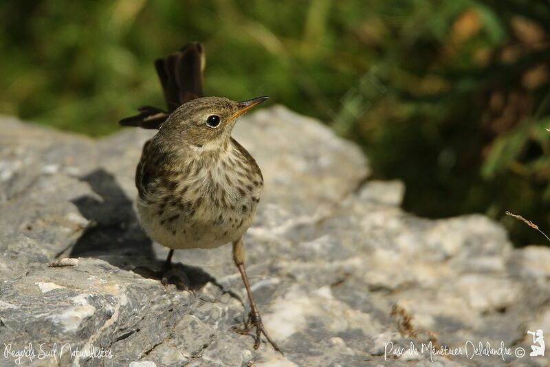
M 246 276 L 245 270 L 245 249 L 242 237 L 233 243 L 233 260 L 236 267 L 239 269 L 239 272 L 241 273 L 243 283 L 245 284 L 246 293 L 248 294 L 248 300 L 250 301 L 250 313 L 248 314 L 248 320 L 245 322 L 244 329 L 239 331 L 239 333 L 248 334 L 250 329 L 256 326 L 256 340 L 254 341 L 254 349 L 257 349 L 260 346 L 261 335 L 263 334 L 267 338 L 267 341 L 270 342 L 270 344 L 276 351 L 278 351 L 279 353 L 283 353 L 265 330 L 265 327 L 262 323 L 262 318 L 260 316 L 258 308 L 256 307 L 256 302 L 254 302 L 254 298 L 252 298 L 252 290 L 250 289 L 248 276 Z

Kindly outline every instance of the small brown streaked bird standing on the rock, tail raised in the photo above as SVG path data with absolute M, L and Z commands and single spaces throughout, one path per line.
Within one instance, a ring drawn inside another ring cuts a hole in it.
M 261 199 L 263 175 L 254 157 L 231 136 L 238 118 L 267 97 L 241 102 L 205 97 L 204 67 L 200 43 L 155 60 L 168 110 L 142 107 L 120 120 L 122 126 L 158 129 L 145 142 L 136 168 L 138 217 L 146 234 L 169 248 L 164 274 L 172 267 L 175 249 L 232 243 L 250 302 L 239 332 L 248 334 L 255 327 L 254 349 L 264 335 L 282 353 L 263 326 L 245 270 L 243 236 Z

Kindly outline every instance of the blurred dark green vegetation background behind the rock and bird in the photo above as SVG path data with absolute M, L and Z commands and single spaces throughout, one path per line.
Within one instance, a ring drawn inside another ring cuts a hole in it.
M 423 216 L 550 231 L 550 1 L 3 1 L 0 113 L 104 135 L 164 107 L 153 60 L 201 41 L 206 92 L 358 142 Z

